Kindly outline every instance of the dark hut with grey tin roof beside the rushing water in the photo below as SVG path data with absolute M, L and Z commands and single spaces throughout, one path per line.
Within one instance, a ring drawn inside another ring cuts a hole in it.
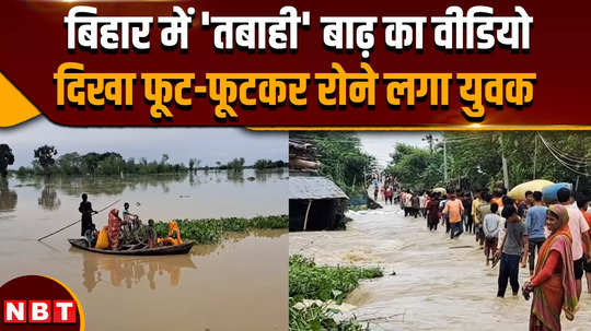
M 321 230 L 341 226 L 349 198 L 332 180 L 320 176 L 289 178 L 289 229 Z

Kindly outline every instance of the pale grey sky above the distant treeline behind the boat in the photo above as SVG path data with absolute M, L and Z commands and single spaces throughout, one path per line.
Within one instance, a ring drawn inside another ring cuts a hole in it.
M 0 144 L 8 143 L 15 162 L 9 168 L 28 166 L 33 150 L 48 144 L 58 156 L 69 152 L 117 152 L 125 158 L 160 159 L 169 154 L 171 163 L 201 159 L 201 166 L 216 161 L 244 157 L 251 165 L 259 158 L 288 161 L 287 132 L 252 132 L 243 128 L 69 128 L 39 117 L 15 128 L 0 128 Z

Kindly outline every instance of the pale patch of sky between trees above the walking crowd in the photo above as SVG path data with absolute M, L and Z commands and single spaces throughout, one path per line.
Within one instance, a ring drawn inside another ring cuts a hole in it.
M 358 135 L 361 139 L 363 150 L 368 154 L 375 156 L 380 166 L 385 166 L 391 159 L 390 154 L 394 152 L 394 147 L 398 143 L 428 147 L 429 144 L 422 141 L 422 138 L 428 133 L 433 134 L 436 139 L 441 141 L 441 133 L 428 131 L 370 131 L 359 132 Z

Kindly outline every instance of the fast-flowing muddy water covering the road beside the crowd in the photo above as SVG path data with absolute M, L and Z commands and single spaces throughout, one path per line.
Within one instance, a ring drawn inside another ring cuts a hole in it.
M 496 298 L 498 267 L 485 267 L 472 235 L 450 241 L 444 229 L 429 234 L 424 218 L 405 218 L 395 206 L 349 216 L 345 232 L 291 233 L 290 253 L 323 264 L 382 267 L 384 277 L 362 282 L 346 300 L 372 329 L 528 329 L 531 302 L 511 297 L 510 288 L 508 297 Z M 521 284 L 528 274 L 520 270 Z M 579 307 L 572 322 L 563 315 L 564 330 L 591 330 L 590 294 Z

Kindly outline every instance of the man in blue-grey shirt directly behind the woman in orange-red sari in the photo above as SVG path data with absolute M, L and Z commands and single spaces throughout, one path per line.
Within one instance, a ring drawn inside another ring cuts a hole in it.
M 533 193 L 534 205 L 528 210 L 525 217 L 525 227 L 529 234 L 529 251 L 530 251 L 530 275 L 533 275 L 535 264 L 535 250 L 540 252 L 542 244 L 546 240 L 544 227 L 546 226 L 546 210 L 542 203 L 542 192 Z

